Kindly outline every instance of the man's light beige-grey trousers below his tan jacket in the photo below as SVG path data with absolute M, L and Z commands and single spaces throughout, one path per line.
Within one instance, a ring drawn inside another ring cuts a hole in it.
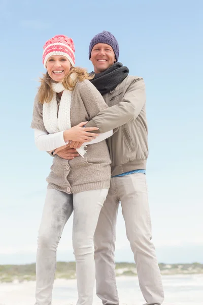
M 137 264 L 145 305 L 160 305 L 164 294 L 155 248 L 151 242 L 151 219 L 146 175 L 134 173 L 111 179 L 107 200 L 94 234 L 96 293 L 104 305 L 119 304 L 115 279 L 116 218 L 119 202 L 126 234 Z

